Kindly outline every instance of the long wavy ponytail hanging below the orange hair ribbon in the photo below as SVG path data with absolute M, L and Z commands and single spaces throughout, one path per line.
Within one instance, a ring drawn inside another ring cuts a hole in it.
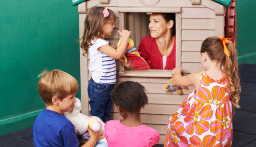
M 224 72 L 228 78 L 229 84 L 229 94 L 231 96 L 231 102 L 234 107 L 240 108 L 239 100 L 240 100 L 240 78 L 238 72 L 238 63 L 237 63 L 237 51 L 234 47 L 234 44 L 229 41 L 227 44 L 227 49 L 230 53 L 230 56 L 226 56 L 226 60 L 224 62 Z

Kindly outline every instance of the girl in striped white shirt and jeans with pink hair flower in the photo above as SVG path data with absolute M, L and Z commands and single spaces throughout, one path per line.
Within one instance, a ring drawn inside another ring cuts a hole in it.
M 86 15 L 85 31 L 82 37 L 81 48 L 85 54 L 89 53 L 89 73 L 91 80 L 88 85 L 90 115 L 99 117 L 103 122 L 111 120 L 112 100 L 110 93 L 114 89 L 116 81 L 115 59 L 120 59 L 126 51 L 130 31 L 118 31 L 123 38 L 118 48 L 110 46 L 109 41 L 104 40 L 111 35 L 115 14 L 113 11 L 94 7 Z M 116 48 L 116 49 L 115 49 Z

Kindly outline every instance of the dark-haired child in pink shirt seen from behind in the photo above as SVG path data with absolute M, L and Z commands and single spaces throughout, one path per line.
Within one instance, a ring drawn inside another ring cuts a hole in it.
M 105 124 L 108 147 L 156 147 L 160 134 L 141 121 L 141 108 L 148 103 L 145 88 L 138 82 L 120 83 L 111 98 L 123 120 L 109 120 Z

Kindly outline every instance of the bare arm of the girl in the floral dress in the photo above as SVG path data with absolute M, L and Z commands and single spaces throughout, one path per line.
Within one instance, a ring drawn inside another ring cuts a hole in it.
M 189 74 L 188 76 L 182 76 L 182 68 L 173 68 L 171 74 L 173 74 L 173 81 L 177 86 L 188 87 L 194 85 L 196 89 L 199 88 L 200 85 L 200 74 L 198 72 L 194 72 Z

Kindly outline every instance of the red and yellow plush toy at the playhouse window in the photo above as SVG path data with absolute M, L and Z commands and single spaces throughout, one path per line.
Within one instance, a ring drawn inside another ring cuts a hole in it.
M 118 41 L 117 47 L 120 45 L 122 38 Z M 131 66 L 135 69 L 150 69 L 147 62 L 141 57 L 141 53 L 134 47 L 134 42 L 130 38 L 128 39 L 126 51 L 124 54 L 125 63 L 127 59 L 131 60 Z

